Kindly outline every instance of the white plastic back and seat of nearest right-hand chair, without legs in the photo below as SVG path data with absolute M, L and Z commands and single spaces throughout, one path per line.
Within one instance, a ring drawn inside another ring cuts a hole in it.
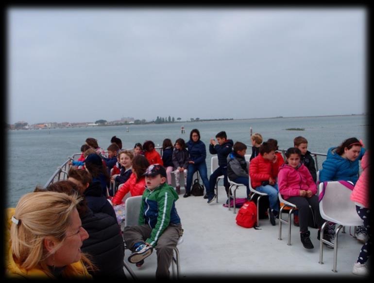
M 320 195 L 323 183 L 319 185 Z M 362 225 L 362 220 L 356 212 L 356 205 L 350 199 L 352 190 L 339 181 L 325 183 L 326 187 L 320 201 L 322 218 L 344 226 Z

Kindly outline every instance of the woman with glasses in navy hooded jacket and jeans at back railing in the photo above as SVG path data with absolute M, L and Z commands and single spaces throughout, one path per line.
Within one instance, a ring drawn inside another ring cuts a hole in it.
M 204 183 L 205 192 L 209 190 L 209 180 L 205 163 L 206 148 L 204 142 L 200 141 L 200 132 L 198 129 L 193 129 L 191 131 L 189 134 L 189 141 L 187 141 L 186 145 L 189 153 L 189 164 L 187 169 L 186 194 L 183 195 L 183 197 L 188 197 L 191 195 L 192 177 L 196 171 L 199 171 L 200 173 L 200 177 Z

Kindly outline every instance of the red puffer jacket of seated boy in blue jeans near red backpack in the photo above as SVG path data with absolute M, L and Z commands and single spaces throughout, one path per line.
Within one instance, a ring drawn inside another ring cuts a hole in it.
M 262 155 L 257 155 L 249 162 L 249 177 L 251 177 L 252 188 L 261 186 L 262 181 L 269 181 L 271 177 L 276 181 L 278 175 L 278 163 L 273 163 L 268 159 L 264 159 Z

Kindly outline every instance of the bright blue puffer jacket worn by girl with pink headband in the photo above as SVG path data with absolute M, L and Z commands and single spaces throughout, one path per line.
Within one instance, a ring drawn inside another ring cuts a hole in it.
M 365 148 L 361 148 L 361 152 L 355 161 L 342 158 L 336 153 L 337 147 L 330 147 L 327 151 L 327 158 L 322 163 L 320 171 L 320 182 L 345 180 L 356 184 L 358 179 L 358 160 L 362 159 Z

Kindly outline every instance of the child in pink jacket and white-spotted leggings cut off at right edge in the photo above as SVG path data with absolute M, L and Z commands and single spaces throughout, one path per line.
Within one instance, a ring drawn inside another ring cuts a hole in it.
M 351 200 L 356 204 L 356 211 L 358 216 L 361 217 L 364 222 L 364 231 L 368 235 L 366 243 L 362 246 L 357 262 L 353 266 L 352 273 L 356 275 L 368 275 L 369 269 L 366 266 L 366 262 L 371 254 L 371 229 L 370 229 L 370 217 L 369 217 L 369 150 L 367 150 L 361 159 L 361 167 L 363 169 L 362 174 L 357 180 L 355 188 L 351 194 Z M 362 228 L 361 228 L 362 229 Z

